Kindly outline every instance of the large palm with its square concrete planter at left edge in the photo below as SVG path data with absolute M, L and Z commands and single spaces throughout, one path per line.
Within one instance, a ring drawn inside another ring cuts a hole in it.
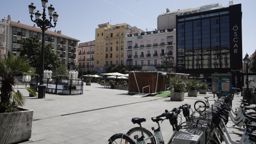
M 14 91 L 15 76 L 35 75 L 35 69 L 24 57 L 15 57 L 8 52 L 0 61 L 0 143 L 18 143 L 30 139 L 34 110 L 22 108 L 26 99 L 19 90 Z M 30 94 L 37 96 L 29 87 Z

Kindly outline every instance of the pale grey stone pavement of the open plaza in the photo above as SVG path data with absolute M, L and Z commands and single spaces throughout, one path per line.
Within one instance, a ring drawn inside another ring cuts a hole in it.
M 213 93 L 208 92 L 198 94 L 198 97 L 187 97 L 186 93 L 185 100 L 180 102 L 171 101 L 170 97 L 132 97 L 128 91 L 106 89 L 96 83 L 84 85 L 82 95 L 46 93 L 45 99 L 28 97 L 25 89 L 19 90 L 27 95 L 25 108 L 34 110 L 31 138 L 22 143 L 108 143 L 111 135 L 126 133 L 138 126 L 131 122 L 133 117 L 146 118 L 147 122 L 142 126 L 151 131 L 152 126 L 157 127 L 151 117 L 161 115 L 165 109 L 172 110 L 185 103 L 194 107 L 194 102 L 204 100 L 204 97 L 210 97 L 209 102 L 213 103 Z M 241 98 L 235 95 L 233 108 L 238 106 Z M 234 140 L 239 140 L 243 130 L 233 128 L 231 123 L 228 124 L 229 132 Z M 172 126 L 169 121 L 164 121 L 161 128 L 163 138 L 168 141 Z

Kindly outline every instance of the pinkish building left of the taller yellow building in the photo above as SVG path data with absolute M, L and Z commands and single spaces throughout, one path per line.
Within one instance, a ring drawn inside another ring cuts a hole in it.
M 84 68 L 84 71 L 94 70 L 94 49 L 95 41 L 78 44 L 78 62 L 79 68 Z

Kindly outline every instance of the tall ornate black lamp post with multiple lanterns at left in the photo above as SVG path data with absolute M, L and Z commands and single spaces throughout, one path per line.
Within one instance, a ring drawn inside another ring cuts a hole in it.
M 45 13 L 45 7 L 47 6 L 48 0 L 41 0 L 42 1 L 42 6 L 43 6 L 43 14 L 39 13 L 37 11 L 35 13 L 36 6 L 34 6 L 34 3 L 31 3 L 29 5 L 29 13 L 30 13 L 30 19 L 31 21 L 35 22 L 38 27 L 42 29 L 42 50 L 41 50 L 41 68 L 40 68 L 40 84 L 38 85 L 38 99 L 45 98 L 45 88 L 46 86 L 44 85 L 44 33 L 47 28 L 54 28 L 56 26 L 56 22 L 58 20 L 58 14 L 57 12 L 54 12 L 54 7 L 50 5 L 48 7 L 48 12 L 50 15 L 50 20 L 46 19 L 46 13 Z M 33 14 L 35 14 L 36 19 L 33 20 Z M 41 15 L 43 15 L 42 19 L 40 19 Z M 52 25 L 52 19 L 54 22 L 54 26 Z

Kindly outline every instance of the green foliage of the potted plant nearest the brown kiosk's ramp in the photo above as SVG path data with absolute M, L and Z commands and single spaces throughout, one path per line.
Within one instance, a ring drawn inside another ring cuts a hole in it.
M 170 85 L 173 85 L 174 92 L 185 92 L 186 84 L 178 77 L 171 77 Z

